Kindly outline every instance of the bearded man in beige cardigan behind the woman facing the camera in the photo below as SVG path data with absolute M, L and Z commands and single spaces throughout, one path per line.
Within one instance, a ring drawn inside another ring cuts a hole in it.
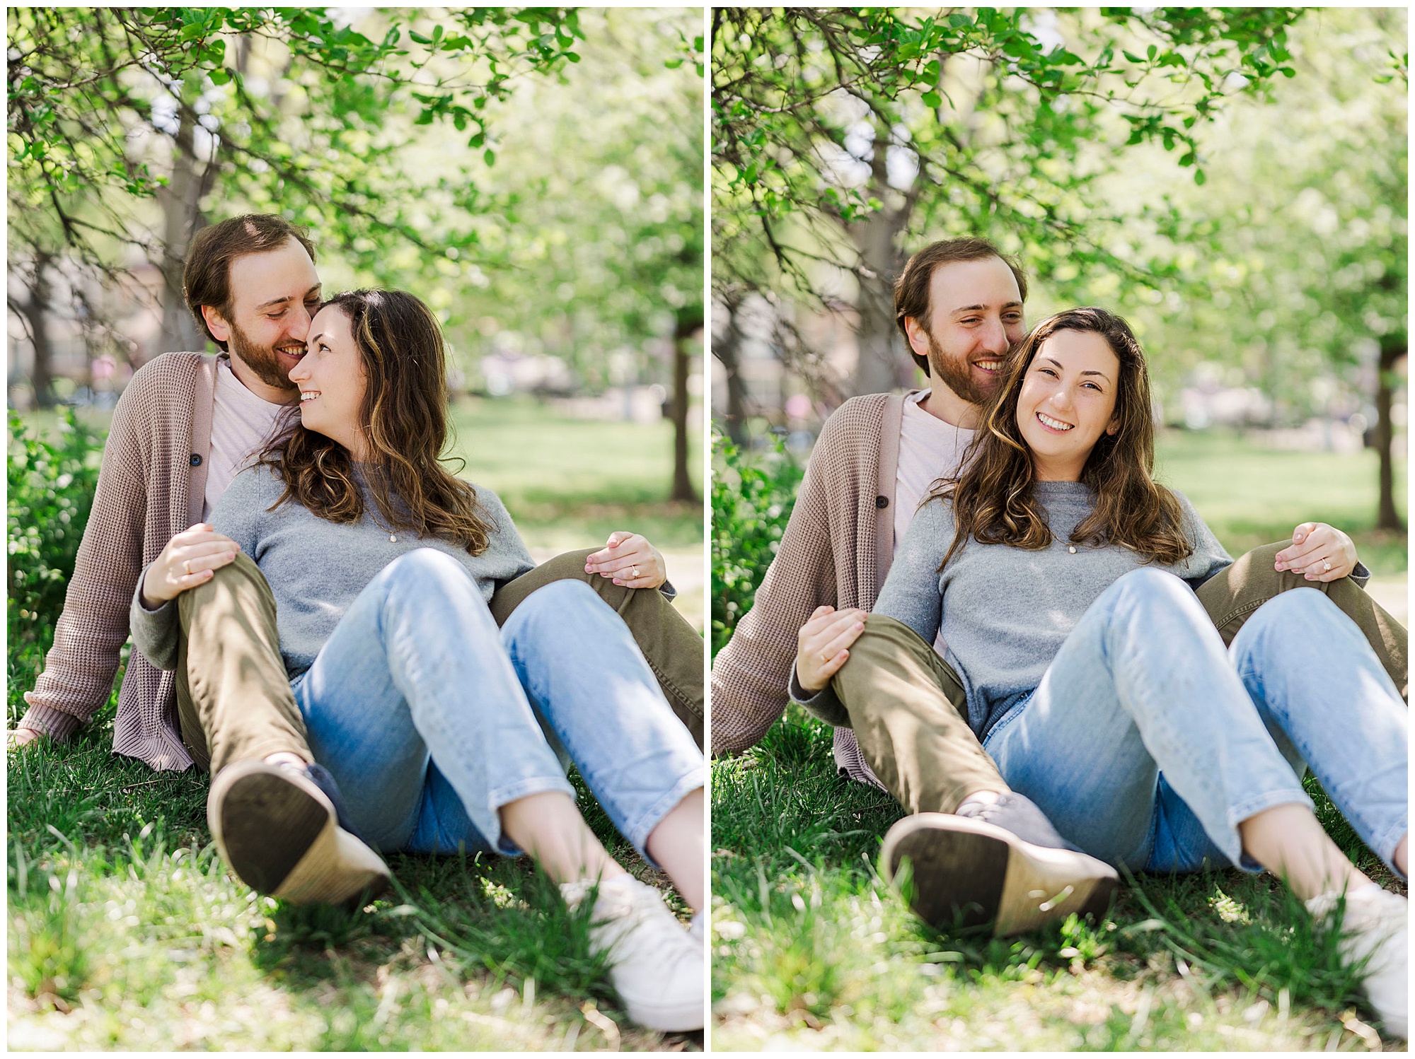
M 965 922 L 992 920 L 999 935 L 1104 909 L 1114 868 L 1071 848 L 1034 805 L 1009 792 L 966 725 L 942 643 L 907 681 L 944 694 L 923 718 L 882 689 L 850 689 L 846 710 L 835 674 L 920 499 L 962 460 L 979 404 L 1026 332 L 1026 293 L 1022 267 L 985 239 L 934 243 L 910 259 L 894 288 L 896 321 L 932 386 L 853 397 L 831 416 L 777 557 L 712 677 L 716 752 L 751 747 L 791 697 L 802 701 L 838 725 L 841 772 L 882 786 L 911 813 L 890 830 L 883 858 L 887 872 L 913 861 L 914 909 L 935 923 L 959 912 Z M 1203 585 L 1206 609 L 1230 642 L 1264 599 L 1315 584 L 1356 618 L 1404 689 L 1399 625 L 1348 578 L 1303 580 L 1303 558 L 1319 544 L 1351 547 L 1339 530 L 1303 523 L 1290 544 L 1258 549 Z M 798 656 L 809 673 L 797 672 Z M 1058 894 L 1064 899 L 1051 902 Z

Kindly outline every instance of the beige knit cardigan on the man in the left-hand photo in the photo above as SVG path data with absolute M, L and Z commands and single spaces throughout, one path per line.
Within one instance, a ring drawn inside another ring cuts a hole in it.
M 175 533 L 201 520 L 215 392 L 215 356 L 163 353 L 119 397 L 54 646 L 24 696 L 30 708 L 18 727 L 67 739 L 108 703 L 139 575 Z M 173 674 L 136 650 L 117 694 L 113 752 L 154 769 L 192 763 Z

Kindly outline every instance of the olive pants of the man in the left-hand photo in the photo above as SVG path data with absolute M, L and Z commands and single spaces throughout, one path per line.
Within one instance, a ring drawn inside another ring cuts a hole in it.
M 531 592 L 550 581 L 584 581 L 628 625 L 674 714 L 703 745 L 703 638 L 652 588 L 624 588 L 584 573 L 597 549 L 567 551 L 508 581 L 491 598 L 504 625 Z M 310 759 L 304 720 L 280 657 L 270 585 L 246 554 L 207 584 L 177 597 L 177 717 L 183 742 L 212 773 L 233 761 L 293 752 Z

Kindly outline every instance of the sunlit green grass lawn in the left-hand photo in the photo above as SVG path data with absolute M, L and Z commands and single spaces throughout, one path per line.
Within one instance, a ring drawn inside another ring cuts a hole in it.
M 666 424 L 569 420 L 532 402 L 454 416 L 467 476 L 507 501 L 531 547 L 600 543 L 638 516 L 630 527 L 657 519 L 655 543 L 700 554 L 700 508 L 655 503 L 672 468 Z M 560 486 L 573 495 L 555 506 Z M 23 710 L 34 674 L 10 677 Z M 398 887 L 354 913 L 259 898 L 216 857 L 207 778 L 115 758 L 113 707 L 67 747 L 8 756 L 11 1048 L 700 1046 L 700 1034 L 627 1021 L 583 920 L 525 861 L 392 855 Z M 685 912 L 580 792 L 611 853 Z

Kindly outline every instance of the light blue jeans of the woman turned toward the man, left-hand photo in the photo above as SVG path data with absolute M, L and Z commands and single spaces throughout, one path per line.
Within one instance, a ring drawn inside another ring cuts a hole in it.
M 291 687 L 310 749 L 379 850 L 521 853 L 501 806 L 560 790 L 567 754 L 641 854 L 706 768 L 628 628 L 580 581 L 498 629 L 456 558 L 389 563 Z

